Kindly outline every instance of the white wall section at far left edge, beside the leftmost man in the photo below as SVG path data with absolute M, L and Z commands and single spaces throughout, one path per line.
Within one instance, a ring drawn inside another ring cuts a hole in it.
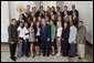
M 9 2 L 1 1 L 1 42 L 8 42 Z

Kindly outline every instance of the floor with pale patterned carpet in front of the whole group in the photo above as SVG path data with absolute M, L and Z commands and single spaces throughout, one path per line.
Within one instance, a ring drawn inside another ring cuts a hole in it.
M 79 60 L 76 56 L 75 57 L 63 57 L 62 55 L 61 56 L 50 55 L 49 57 L 46 57 L 46 56 L 40 55 L 40 56 L 35 56 L 34 59 L 23 56 L 22 59 L 17 59 L 15 62 L 93 62 L 93 45 L 86 43 L 85 51 L 86 51 L 86 56 L 83 60 Z M 1 62 L 13 62 L 10 60 L 8 44 L 1 44 Z

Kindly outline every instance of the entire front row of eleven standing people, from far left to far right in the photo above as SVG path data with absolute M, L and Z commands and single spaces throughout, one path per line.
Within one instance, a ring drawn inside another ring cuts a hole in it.
M 15 61 L 15 48 L 18 44 L 18 57 L 30 55 L 33 57 L 34 48 L 36 55 L 41 55 L 40 50 L 42 49 L 43 56 L 56 55 L 63 56 L 75 56 L 75 43 L 77 44 L 77 55 L 79 57 L 84 57 L 85 50 L 85 38 L 86 29 L 83 22 L 79 22 L 79 29 L 76 29 L 73 23 L 64 22 L 64 28 L 62 28 L 61 22 L 51 20 L 50 24 L 46 24 L 45 19 L 42 19 L 42 24 L 38 21 L 36 23 L 31 22 L 30 28 L 28 28 L 28 22 L 20 22 L 19 28 L 15 27 L 15 19 L 11 20 L 11 24 L 8 28 L 9 42 L 10 42 L 10 59 Z M 62 49 L 62 50 L 61 50 Z

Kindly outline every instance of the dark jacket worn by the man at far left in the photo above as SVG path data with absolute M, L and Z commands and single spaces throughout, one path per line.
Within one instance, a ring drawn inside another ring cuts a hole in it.
M 14 42 L 17 43 L 18 42 L 18 31 L 17 31 L 17 27 L 10 24 L 8 27 L 8 33 L 9 33 L 9 42 Z

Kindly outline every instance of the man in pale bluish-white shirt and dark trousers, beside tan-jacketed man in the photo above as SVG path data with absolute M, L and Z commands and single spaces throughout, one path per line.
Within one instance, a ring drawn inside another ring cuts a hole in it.
M 75 39 L 76 39 L 77 29 L 71 22 L 70 27 L 70 35 L 69 35 L 69 43 L 70 43 L 70 57 L 75 57 Z

